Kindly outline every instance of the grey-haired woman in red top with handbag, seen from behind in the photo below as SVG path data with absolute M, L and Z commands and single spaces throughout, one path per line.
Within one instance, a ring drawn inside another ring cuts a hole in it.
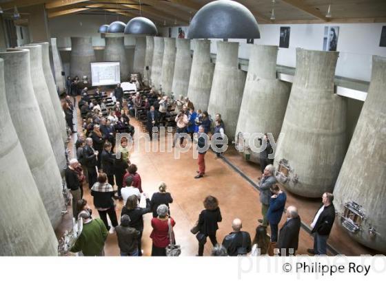
M 176 221 L 169 217 L 168 211 L 169 208 L 162 204 L 157 208 L 158 217 L 152 218 L 152 257 L 166 257 L 166 247 L 170 244 L 168 221 L 172 226 L 176 225 Z

